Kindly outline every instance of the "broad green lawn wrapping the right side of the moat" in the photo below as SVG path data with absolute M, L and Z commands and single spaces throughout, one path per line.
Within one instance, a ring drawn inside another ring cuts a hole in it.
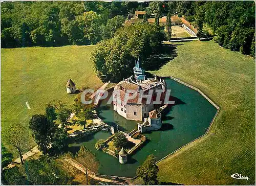
M 152 72 L 200 88 L 221 107 L 208 135 L 158 163 L 160 181 L 254 184 L 254 59 L 214 41 L 177 43 L 177 57 Z M 207 110 L 206 110 L 207 111 Z M 234 173 L 250 179 L 233 179 Z

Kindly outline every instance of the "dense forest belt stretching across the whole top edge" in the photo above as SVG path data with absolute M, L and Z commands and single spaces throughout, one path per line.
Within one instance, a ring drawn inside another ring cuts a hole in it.
M 255 55 L 253 1 L 166 2 L 3 2 L 2 48 L 96 44 L 114 36 L 127 13 L 178 12 L 193 22 L 198 35 L 209 28 L 222 47 Z

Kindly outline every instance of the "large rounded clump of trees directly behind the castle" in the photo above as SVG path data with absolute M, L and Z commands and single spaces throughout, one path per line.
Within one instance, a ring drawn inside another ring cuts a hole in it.
M 165 39 L 163 30 L 148 23 L 120 28 L 111 39 L 99 42 L 91 54 L 95 74 L 103 81 L 131 75 L 135 60 L 157 52 Z

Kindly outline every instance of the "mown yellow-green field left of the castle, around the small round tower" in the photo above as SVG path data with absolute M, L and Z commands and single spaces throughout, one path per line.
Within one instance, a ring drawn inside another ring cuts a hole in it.
M 52 100 L 61 100 L 72 107 L 75 95 L 68 95 L 65 86 L 69 78 L 77 88 L 100 87 L 102 82 L 89 62 L 93 49 L 76 45 L 2 49 L 2 132 L 13 122 L 28 125 L 30 117 L 43 113 Z

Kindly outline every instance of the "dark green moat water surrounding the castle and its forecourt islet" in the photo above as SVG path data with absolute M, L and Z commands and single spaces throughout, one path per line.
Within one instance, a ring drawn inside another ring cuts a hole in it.
M 98 139 L 105 139 L 108 132 L 96 133 L 88 142 L 72 144 L 73 147 L 87 146 L 100 161 L 100 174 L 134 177 L 137 167 L 146 157 L 154 154 L 157 160 L 204 134 L 214 118 L 217 109 L 197 91 L 174 80 L 166 79 L 167 88 L 172 89 L 176 105 L 163 118 L 164 129 L 144 134 L 149 142 L 136 154 L 130 157 L 127 164 L 121 165 L 118 159 L 94 147 Z M 128 121 L 113 111 L 112 107 L 101 103 L 99 117 L 106 123 L 116 123 L 123 131 L 130 132 L 137 128 L 137 122 Z

